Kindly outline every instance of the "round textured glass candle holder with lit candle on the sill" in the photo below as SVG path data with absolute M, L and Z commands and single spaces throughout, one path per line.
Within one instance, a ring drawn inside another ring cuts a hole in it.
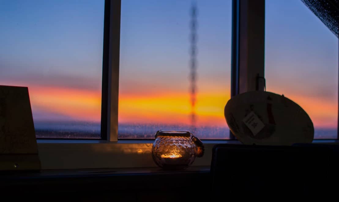
M 204 154 L 202 142 L 189 131 L 157 131 L 152 147 L 154 162 L 165 169 L 183 169 Z

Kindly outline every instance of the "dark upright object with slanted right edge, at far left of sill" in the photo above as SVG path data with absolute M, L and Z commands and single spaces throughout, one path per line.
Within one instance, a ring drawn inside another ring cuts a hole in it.
M 0 171 L 39 171 L 28 88 L 0 86 Z

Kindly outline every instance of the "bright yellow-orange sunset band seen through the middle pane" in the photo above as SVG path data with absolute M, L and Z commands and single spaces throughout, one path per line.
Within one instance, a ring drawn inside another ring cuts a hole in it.
M 196 103 L 197 124 L 226 126 L 225 94 L 199 93 Z M 165 124 L 190 124 L 191 104 L 188 94 L 148 97 L 119 97 L 119 120 Z

